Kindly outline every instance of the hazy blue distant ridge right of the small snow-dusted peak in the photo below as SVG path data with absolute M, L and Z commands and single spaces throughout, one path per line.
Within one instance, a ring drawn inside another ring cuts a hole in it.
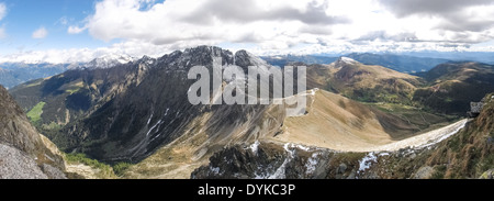
M 414 57 L 392 54 L 352 53 L 346 57 L 353 58 L 364 65 L 379 65 L 401 72 L 428 71 L 435 66 L 449 62 L 444 58 Z

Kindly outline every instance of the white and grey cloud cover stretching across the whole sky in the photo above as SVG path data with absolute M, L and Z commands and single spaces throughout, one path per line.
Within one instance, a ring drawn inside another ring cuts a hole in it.
M 420 0 L 414 8 L 411 0 L 395 5 L 391 0 L 154 2 L 101 0 L 93 13 L 67 30 L 69 34 L 87 30 L 94 38 L 116 38 L 121 41 L 117 44 L 36 52 L 29 58 L 16 54 L 10 59 L 87 60 L 104 53 L 160 56 L 198 45 L 225 44 L 246 46 L 260 55 L 494 49 L 475 45 L 494 40 L 494 4 L 484 0 L 454 0 L 447 7 Z

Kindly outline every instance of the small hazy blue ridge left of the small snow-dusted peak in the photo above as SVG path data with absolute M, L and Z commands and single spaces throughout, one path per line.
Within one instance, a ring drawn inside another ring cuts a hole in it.
M 278 56 L 262 56 L 262 59 L 270 65 L 284 67 L 290 63 L 304 63 L 304 64 L 330 64 L 338 57 L 325 57 L 325 56 L 312 56 L 312 55 L 278 55 Z

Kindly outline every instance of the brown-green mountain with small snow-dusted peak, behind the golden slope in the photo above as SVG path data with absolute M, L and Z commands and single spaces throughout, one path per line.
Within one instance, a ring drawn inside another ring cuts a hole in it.
M 382 66 L 363 65 L 340 57 L 330 65 L 307 68 L 307 85 L 364 102 L 411 104 L 413 92 L 422 85 L 422 80 Z

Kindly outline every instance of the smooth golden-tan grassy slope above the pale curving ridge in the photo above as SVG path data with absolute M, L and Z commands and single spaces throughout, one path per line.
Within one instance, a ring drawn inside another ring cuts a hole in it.
M 310 97 L 311 103 L 314 97 Z M 413 135 L 416 126 L 339 94 L 319 90 L 303 116 L 288 118 L 274 141 L 358 152 Z M 388 124 L 382 120 L 389 120 Z

